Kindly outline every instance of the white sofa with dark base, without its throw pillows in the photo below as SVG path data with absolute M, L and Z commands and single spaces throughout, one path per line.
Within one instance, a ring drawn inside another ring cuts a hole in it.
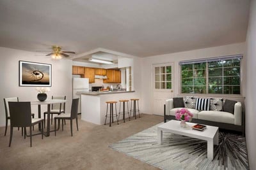
M 174 108 L 173 99 L 168 99 L 164 104 L 164 122 L 166 120 L 175 120 L 175 112 L 180 108 Z M 244 113 L 242 104 L 237 102 L 234 106 L 234 114 L 226 111 L 199 111 L 194 108 L 188 108 L 193 113 L 191 122 L 196 124 L 214 125 L 221 129 L 242 132 L 244 136 Z

